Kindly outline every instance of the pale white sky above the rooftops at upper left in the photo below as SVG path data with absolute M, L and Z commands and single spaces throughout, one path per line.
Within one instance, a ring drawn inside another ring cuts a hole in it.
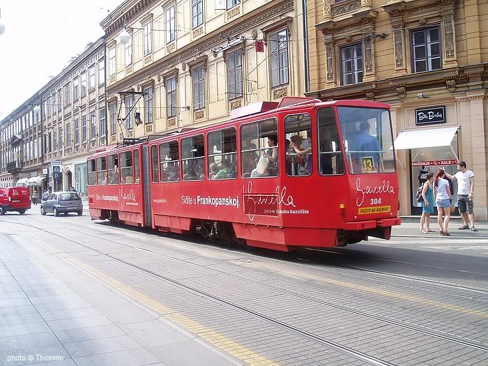
M 100 22 L 121 3 L 0 0 L 0 121 L 103 36 Z

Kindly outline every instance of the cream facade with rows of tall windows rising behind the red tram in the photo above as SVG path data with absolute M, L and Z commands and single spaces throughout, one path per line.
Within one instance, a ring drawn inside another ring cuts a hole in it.
M 303 95 L 299 6 L 292 0 L 125 1 L 101 23 L 109 144 L 218 123 L 248 103 Z

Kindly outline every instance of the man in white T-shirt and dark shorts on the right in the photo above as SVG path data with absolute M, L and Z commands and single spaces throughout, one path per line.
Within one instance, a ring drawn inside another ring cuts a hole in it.
M 457 173 L 450 175 L 445 173 L 450 180 L 457 180 L 457 207 L 463 218 L 463 225 L 459 230 L 467 230 L 468 217 L 471 222 L 471 231 L 478 231 L 475 228 L 475 215 L 473 213 L 473 194 L 475 190 L 475 174 L 466 169 L 466 162 L 458 162 Z

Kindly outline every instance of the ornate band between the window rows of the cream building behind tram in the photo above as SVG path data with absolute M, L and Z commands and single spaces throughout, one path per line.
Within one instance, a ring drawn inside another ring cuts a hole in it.
M 116 93 L 117 91 L 122 91 L 128 89 L 130 86 L 134 85 L 135 83 L 139 82 L 139 80 L 145 79 L 151 75 L 157 75 L 162 70 L 169 68 L 176 63 L 179 63 L 184 60 L 191 59 L 195 55 L 200 54 L 208 49 L 211 49 L 215 45 L 220 45 L 222 43 L 222 36 L 226 38 L 233 38 L 236 35 L 242 34 L 247 29 L 252 29 L 253 26 L 257 26 L 266 22 L 270 19 L 273 19 L 277 15 L 280 15 L 290 9 L 293 9 L 293 0 L 284 0 L 280 3 L 277 3 L 273 8 L 269 8 L 268 10 L 257 13 L 250 19 L 243 20 L 241 22 L 236 22 L 235 25 L 229 29 L 229 31 L 224 31 L 218 35 L 213 36 L 212 38 L 201 38 L 201 43 L 198 44 L 189 44 L 181 50 L 175 56 L 167 56 L 162 60 L 158 60 L 157 63 L 154 63 L 147 68 L 141 70 L 142 72 L 137 75 L 133 75 L 132 77 L 125 77 L 119 84 L 111 85 L 107 87 L 108 93 Z

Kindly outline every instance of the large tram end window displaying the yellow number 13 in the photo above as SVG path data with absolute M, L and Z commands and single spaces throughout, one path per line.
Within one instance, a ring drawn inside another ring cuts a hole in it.
M 395 172 L 392 130 L 388 109 L 337 107 L 351 174 Z

